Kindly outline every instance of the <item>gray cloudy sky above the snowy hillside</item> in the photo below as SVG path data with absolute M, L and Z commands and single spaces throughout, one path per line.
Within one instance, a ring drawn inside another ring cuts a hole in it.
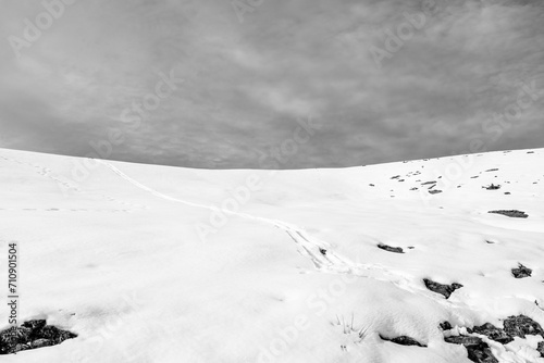
M 3 0 L 0 147 L 83 157 L 116 130 L 108 159 L 219 168 L 544 147 L 544 2 L 435 1 Z

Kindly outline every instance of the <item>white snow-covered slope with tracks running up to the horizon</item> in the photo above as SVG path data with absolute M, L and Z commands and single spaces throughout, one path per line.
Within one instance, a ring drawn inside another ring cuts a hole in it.
M 0 285 L 17 241 L 20 322 L 78 335 L 2 362 L 462 363 L 440 323 L 544 326 L 542 149 L 282 172 L 0 149 Z M 490 346 L 544 362 L 542 340 Z

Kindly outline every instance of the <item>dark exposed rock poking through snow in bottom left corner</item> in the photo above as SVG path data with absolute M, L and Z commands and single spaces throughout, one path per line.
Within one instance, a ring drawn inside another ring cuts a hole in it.
M 28 321 L 20 327 L 0 331 L 0 354 L 60 345 L 77 335 L 47 325 L 45 320 Z

